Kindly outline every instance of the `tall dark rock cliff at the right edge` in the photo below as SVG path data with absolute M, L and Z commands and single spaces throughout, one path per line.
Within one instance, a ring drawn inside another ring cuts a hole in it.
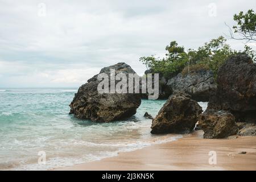
M 218 71 L 217 84 L 209 109 L 229 110 L 237 121 L 256 122 L 256 64 L 249 56 L 230 57 Z

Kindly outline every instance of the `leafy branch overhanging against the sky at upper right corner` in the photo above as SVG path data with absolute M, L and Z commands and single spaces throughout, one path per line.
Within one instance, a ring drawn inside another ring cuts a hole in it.
M 247 42 L 256 41 L 256 13 L 252 9 L 247 13 L 240 11 L 233 16 L 233 19 L 237 25 L 232 27 L 233 30 L 229 27 L 230 38 Z

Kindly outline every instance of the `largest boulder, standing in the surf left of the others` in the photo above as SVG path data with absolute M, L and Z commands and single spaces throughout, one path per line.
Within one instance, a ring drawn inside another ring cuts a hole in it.
M 100 73 L 110 76 L 110 69 L 115 69 L 117 73 L 135 73 L 131 67 L 125 63 L 118 63 L 110 67 L 102 68 Z M 98 75 L 93 76 L 88 82 L 80 86 L 75 94 L 70 114 L 80 119 L 91 119 L 92 121 L 110 122 L 130 117 L 136 113 L 141 104 L 140 94 L 126 93 L 98 93 L 97 86 L 100 81 Z M 127 84 L 128 85 L 128 84 Z

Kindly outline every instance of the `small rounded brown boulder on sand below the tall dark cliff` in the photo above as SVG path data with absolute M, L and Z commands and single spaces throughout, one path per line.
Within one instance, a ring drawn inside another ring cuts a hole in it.
M 204 130 L 204 138 L 226 138 L 238 132 L 234 115 L 224 110 L 206 110 L 200 116 L 199 126 Z

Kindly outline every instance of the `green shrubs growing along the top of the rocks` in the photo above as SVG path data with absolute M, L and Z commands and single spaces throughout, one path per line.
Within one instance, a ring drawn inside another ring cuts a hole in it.
M 252 59 L 255 56 L 255 52 L 249 46 L 245 46 L 244 51 L 231 49 L 226 44 L 224 36 L 212 39 L 209 43 L 205 43 L 204 46 L 196 50 L 188 49 L 187 52 L 184 51 L 184 47 L 178 46 L 176 41 L 172 41 L 166 47 L 166 50 L 168 52 L 163 59 L 156 58 L 152 55 L 141 57 L 139 61 L 142 61 L 147 69 L 151 69 L 152 73 L 160 73 L 167 78 L 176 76 L 181 71 L 184 75 L 189 71 L 198 69 L 211 69 L 214 77 L 217 78 L 218 69 L 231 55 L 246 53 Z

